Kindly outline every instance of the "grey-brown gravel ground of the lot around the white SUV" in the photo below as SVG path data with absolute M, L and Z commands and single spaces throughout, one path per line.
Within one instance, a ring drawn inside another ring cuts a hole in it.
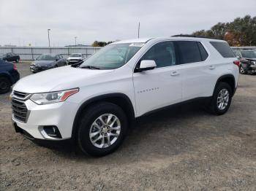
M 22 77 L 29 63 L 19 63 Z M 112 155 L 93 158 L 24 139 L 0 95 L 0 190 L 256 190 L 256 77 L 239 77 L 227 114 L 176 106 L 133 125 Z

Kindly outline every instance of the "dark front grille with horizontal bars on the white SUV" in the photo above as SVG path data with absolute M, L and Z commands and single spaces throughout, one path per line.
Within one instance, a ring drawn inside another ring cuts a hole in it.
M 29 111 L 23 101 L 12 98 L 12 114 L 16 120 L 26 122 L 28 119 Z

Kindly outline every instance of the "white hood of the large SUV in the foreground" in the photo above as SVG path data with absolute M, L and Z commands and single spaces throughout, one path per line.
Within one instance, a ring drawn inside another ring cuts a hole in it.
M 64 66 L 24 77 L 12 89 L 24 93 L 67 90 L 85 85 L 86 82 L 90 83 L 91 78 L 102 77 L 102 75 L 110 72 L 113 72 L 113 70 L 78 69 Z M 94 80 L 91 80 L 91 82 L 94 82 Z

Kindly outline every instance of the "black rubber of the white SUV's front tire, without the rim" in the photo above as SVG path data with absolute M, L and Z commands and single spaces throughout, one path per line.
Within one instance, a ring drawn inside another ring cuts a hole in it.
M 100 149 L 95 147 L 91 143 L 91 140 L 89 138 L 89 130 L 91 128 L 91 124 L 97 119 L 97 117 L 102 114 L 115 114 L 121 122 L 121 132 L 118 136 L 118 139 L 113 145 L 107 148 Z M 86 154 L 96 157 L 108 155 L 111 152 L 115 151 L 121 145 L 121 142 L 124 140 L 124 137 L 127 134 L 127 117 L 124 114 L 123 110 L 115 104 L 97 104 L 96 106 L 92 106 L 89 110 L 87 110 L 87 112 L 84 112 L 81 117 L 82 119 L 80 119 L 80 125 L 78 128 L 78 145 L 82 152 Z

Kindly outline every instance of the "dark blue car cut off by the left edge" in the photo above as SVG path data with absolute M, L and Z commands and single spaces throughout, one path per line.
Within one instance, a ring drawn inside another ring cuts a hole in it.
M 0 93 L 9 92 L 19 79 L 20 74 L 15 64 L 0 59 Z

